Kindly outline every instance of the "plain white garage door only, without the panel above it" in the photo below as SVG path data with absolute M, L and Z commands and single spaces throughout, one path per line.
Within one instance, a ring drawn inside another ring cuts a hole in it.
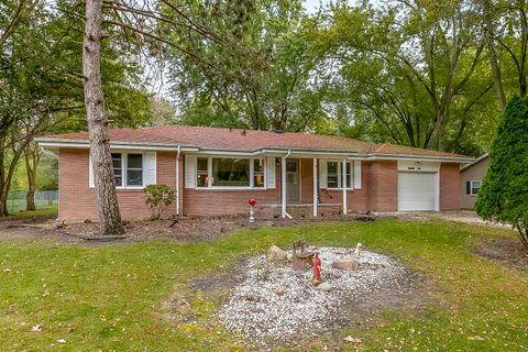
M 436 210 L 436 173 L 398 173 L 398 211 Z

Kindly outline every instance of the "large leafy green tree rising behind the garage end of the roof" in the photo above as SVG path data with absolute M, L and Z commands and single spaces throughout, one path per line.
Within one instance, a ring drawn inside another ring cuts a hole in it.
M 497 111 L 471 1 L 338 3 L 323 15 L 311 43 L 328 67 L 327 101 L 348 111 L 349 132 L 471 154 L 487 145 L 484 129 L 472 129 L 482 120 L 494 128 Z

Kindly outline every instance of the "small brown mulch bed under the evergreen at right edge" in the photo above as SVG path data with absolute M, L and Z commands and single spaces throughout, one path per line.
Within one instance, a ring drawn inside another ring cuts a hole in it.
M 517 270 L 528 271 L 528 250 L 517 239 L 497 239 L 481 243 L 473 253 Z

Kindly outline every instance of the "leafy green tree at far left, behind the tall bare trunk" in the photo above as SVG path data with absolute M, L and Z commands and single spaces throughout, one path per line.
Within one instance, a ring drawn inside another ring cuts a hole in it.
M 8 8 L 15 8 L 19 2 L 8 0 L 6 3 Z M 80 75 L 82 22 L 69 15 L 75 11 L 74 4 L 62 1 L 56 4 L 64 7 L 64 12 L 44 1 L 32 2 L 31 15 L 24 10 L 2 42 L 0 216 L 8 215 L 6 199 L 14 170 L 31 147 L 33 136 L 86 130 Z M 121 46 L 103 44 L 101 74 L 113 124 L 145 124 L 151 117 L 150 95 L 140 84 L 140 67 Z M 40 157 L 31 158 L 40 161 Z M 31 193 L 35 188 L 37 165 L 25 165 Z

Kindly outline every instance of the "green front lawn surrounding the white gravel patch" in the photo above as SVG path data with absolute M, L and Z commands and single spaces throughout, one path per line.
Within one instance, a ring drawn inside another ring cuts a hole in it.
M 164 302 L 189 279 L 226 262 L 300 235 L 320 245 L 392 254 L 429 278 L 436 304 L 420 312 L 383 312 L 342 336 L 370 351 L 528 350 L 528 272 L 470 253 L 506 230 L 450 222 L 341 222 L 240 231 L 208 243 L 151 241 L 82 249 L 0 241 L 0 351 L 233 351 L 239 339 L 218 324 L 176 323 Z M 215 300 L 197 294 L 207 320 Z M 41 332 L 31 332 L 41 323 Z M 475 337 L 477 337 L 475 339 Z M 482 338 L 482 339 L 481 339 Z M 64 339 L 66 343 L 57 343 Z M 322 351 L 323 340 L 310 340 Z M 342 341 L 342 339 L 339 339 Z M 343 342 L 342 348 L 355 348 Z

